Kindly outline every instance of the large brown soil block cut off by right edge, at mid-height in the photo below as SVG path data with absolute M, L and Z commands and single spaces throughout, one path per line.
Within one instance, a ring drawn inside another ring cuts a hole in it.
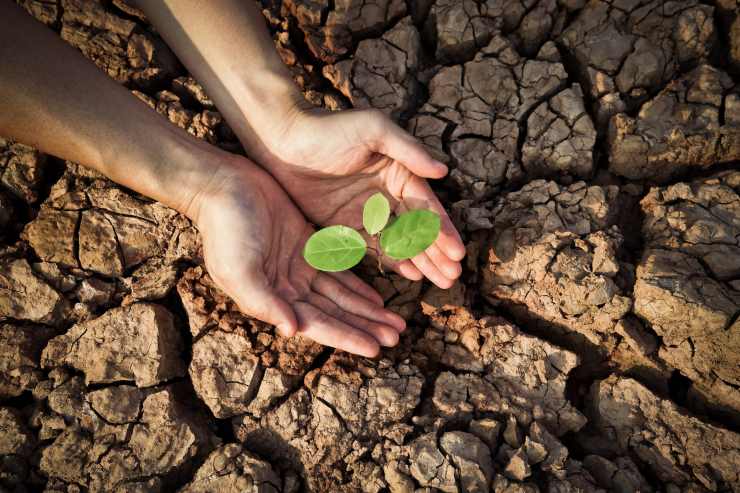
M 659 356 L 692 390 L 740 410 L 740 173 L 654 188 L 642 199 L 646 249 L 635 313 L 662 338 Z

